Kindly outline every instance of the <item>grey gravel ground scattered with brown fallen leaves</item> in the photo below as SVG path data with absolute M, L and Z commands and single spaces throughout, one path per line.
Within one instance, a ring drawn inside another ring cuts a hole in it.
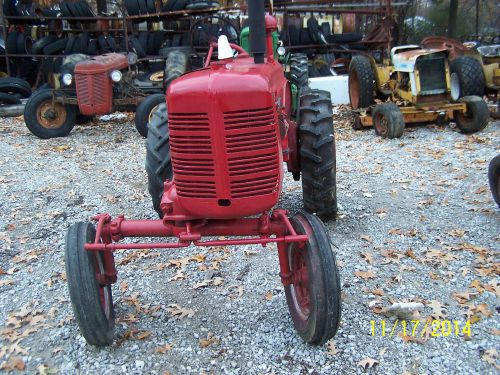
M 53 140 L 35 138 L 22 118 L 0 120 L 0 369 L 498 373 L 500 211 L 486 171 L 500 152 L 499 123 L 471 136 L 429 125 L 383 140 L 351 130 L 343 109 L 336 119 L 342 207 L 327 228 L 343 311 L 334 340 L 312 347 L 296 335 L 275 247 L 189 248 L 116 254 L 117 340 L 103 349 L 87 345 L 73 319 L 64 235 L 98 212 L 155 218 L 144 140 L 131 118 Z M 280 206 L 299 209 L 301 194 L 287 175 Z M 207 268 L 215 271 L 199 287 Z M 423 308 L 398 317 L 389 309 L 398 302 Z M 411 319 L 420 322 L 415 334 Z M 440 334 L 450 321 L 451 334 L 433 337 L 428 319 Z

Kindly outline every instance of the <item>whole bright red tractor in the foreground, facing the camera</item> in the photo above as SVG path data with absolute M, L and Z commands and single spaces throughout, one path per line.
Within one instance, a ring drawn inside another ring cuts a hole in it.
M 290 84 L 273 57 L 277 23 L 263 0 L 249 0 L 250 56 L 210 61 L 175 80 L 149 124 L 146 169 L 158 220 L 112 219 L 72 225 L 66 272 L 76 321 L 92 345 L 113 342 L 113 251 L 277 244 L 280 278 L 299 335 L 323 344 L 340 321 L 340 279 L 318 217 L 337 211 L 335 138 L 328 93 L 301 89 L 292 113 Z M 226 41 L 227 43 L 227 41 Z M 227 45 L 226 45 L 227 47 Z M 168 108 L 168 114 L 167 114 Z M 302 177 L 304 207 L 292 217 L 278 202 L 283 162 Z M 224 236 L 224 237 L 219 237 Z M 126 237 L 171 242 L 120 243 Z M 207 239 L 206 237 L 219 237 Z

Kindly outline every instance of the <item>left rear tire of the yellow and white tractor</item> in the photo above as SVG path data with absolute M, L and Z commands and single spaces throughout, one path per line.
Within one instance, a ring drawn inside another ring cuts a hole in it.
M 366 108 L 373 104 L 375 76 L 370 60 L 366 56 L 353 56 L 349 64 L 349 101 L 353 109 Z

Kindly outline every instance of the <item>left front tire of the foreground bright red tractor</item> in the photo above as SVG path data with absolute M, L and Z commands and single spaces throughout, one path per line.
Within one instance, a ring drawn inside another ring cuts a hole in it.
M 66 234 L 65 262 L 71 305 L 85 340 L 96 346 L 113 343 L 115 311 L 111 284 L 102 284 L 105 267 L 102 252 L 85 250 L 94 242 L 96 231 L 91 223 L 79 222 Z

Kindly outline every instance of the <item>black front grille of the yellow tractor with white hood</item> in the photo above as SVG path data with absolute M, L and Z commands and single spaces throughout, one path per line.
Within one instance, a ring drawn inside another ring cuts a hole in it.
M 420 73 L 420 95 L 446 92 L 445 57 L 440 53 L 418 58 L 416 68 Z

